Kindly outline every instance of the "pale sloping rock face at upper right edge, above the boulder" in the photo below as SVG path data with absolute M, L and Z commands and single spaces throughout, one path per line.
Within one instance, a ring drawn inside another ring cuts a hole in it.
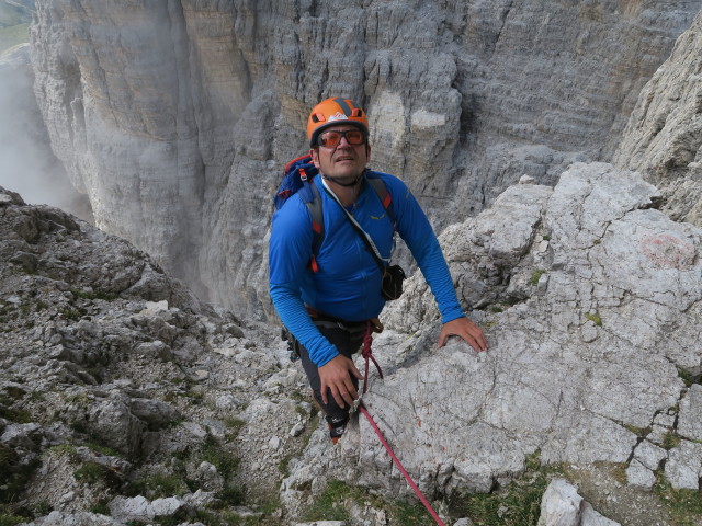
M 702 225 L 702 13 L 642 90 L 614 162 L 641 171 L 665 209 Z

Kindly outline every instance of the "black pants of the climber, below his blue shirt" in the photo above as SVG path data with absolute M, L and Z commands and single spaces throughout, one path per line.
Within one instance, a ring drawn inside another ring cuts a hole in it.
M 319 329 L 319 332 L 331 342 L 340 354 L 346 356 L 347 358 L 353 359 L 353 354 L 359 351 L 361 345 L 363 344 L 363 336 L 365 335 L 366 322 L 332 322 L 332 321 L 321 321 L 313 319 L 313 322 Z M 340 408 L 333 397 L 331 396 L 331 390 L 327 390 L 327 400 L 328 403 L 324 403 L 321 401 L 321 380 L 319 378 L 319 368 L 314 364 L 312 359 L 309 359 L 309 355 L 307 354 L 307 350 L 303 347 L 299 342 L 296 342 L 297 350 L 299 352 L 299 357 L 303 362 L 303 368 L 307 374 L 307 379 L 309 380 L 309 386 L 315 395 L 315 400 L 319 403 L 319 407 L 327 414 L 327 422 L 329 422 L 332 426 L 336 422 L 346 423 L 349 419 L 349 407 Z M 359 389 L 359 380 L 352 375 L 351 381 L 355 389 Z

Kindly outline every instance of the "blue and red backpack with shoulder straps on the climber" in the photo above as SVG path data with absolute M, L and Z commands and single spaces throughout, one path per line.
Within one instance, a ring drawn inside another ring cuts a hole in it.
M 319 195 L 319 190 L 312 181 L 313 178 L 318 173 L 319 170 L 312 162 L 312 157 L 309 155 L 301 156 L 296 159 L 293 159 L 287 164 L 285 164 L 285 169 L 283 170 L 283 180 L 278 187 L 278 192 L 275 192 L 275 196 L 273 197 L 273 203 L 276 210 L 280 209 L 291 196 L 297 193 L 299 193 L 301 199 L 303 201 L 303 203 L 305 203 L 305 206 L 307 206 L 309 217 L 312 218 L 313 230 L 312 259 L 309 261 L 309 266 L 313 272 L 319 271 L 315 254 L 319 253 L 319 248 L 321 247 L 321 243 L 325 239 L 325 221 L 321 214 L 321 196 Z M 387 191 L 385 183 L 377 175 L 377 173 L 371 170 L 365 171 L 365 179 L 381 199 L 383 208 L 385 208 L 385 213 L 387 214 L 387 217 L 389 218 L 394 227 L 395 215 L 393 214 L 393 208 L 390 206 L 393 203 L 393 197 Z

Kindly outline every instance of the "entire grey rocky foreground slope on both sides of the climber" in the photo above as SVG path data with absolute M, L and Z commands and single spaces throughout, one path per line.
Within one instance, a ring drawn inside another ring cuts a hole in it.
M 676 524 L 655 495 L 699 501 L 702 231 L 610 164 L 576 163 L 553 188 L 522 183 L 440 239 L 490 351 L 434 348 L 437 313 L 414 276 L 384 315 L 385 377 L 371 371 L 364 402 L 444 521 L 514 479 L 545 489 L 555 469 L 620 524 Z M 405 524 L 393 503 L 410 491 L 375 433 L 355 414 L 331 445 L 270 327 L 216 312 L 128 242 L 4 191 L 0 262 L 0 510 L 33 526 L 297 524 L 319 518 L 310 505 L 340 480 L 375 495 L 339 504 L 349 525 Z M 556 484 L 543 514 L 554 493 L 585 506 Z

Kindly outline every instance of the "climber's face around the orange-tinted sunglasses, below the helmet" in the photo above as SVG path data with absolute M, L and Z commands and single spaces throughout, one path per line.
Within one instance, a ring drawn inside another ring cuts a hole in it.
M 353 125 L 340 124 L 330 126 L 328 132 L 358 130 Z M 336 146 L 318 146 L 309 150 L 315 165 L 325 175 L 339 179 L 341 182 L 352 182 L 363 172 L 371 157 L 371 147 L 364 141 L 362 145 L 351 145 L 346 137 L 341 137 Z

